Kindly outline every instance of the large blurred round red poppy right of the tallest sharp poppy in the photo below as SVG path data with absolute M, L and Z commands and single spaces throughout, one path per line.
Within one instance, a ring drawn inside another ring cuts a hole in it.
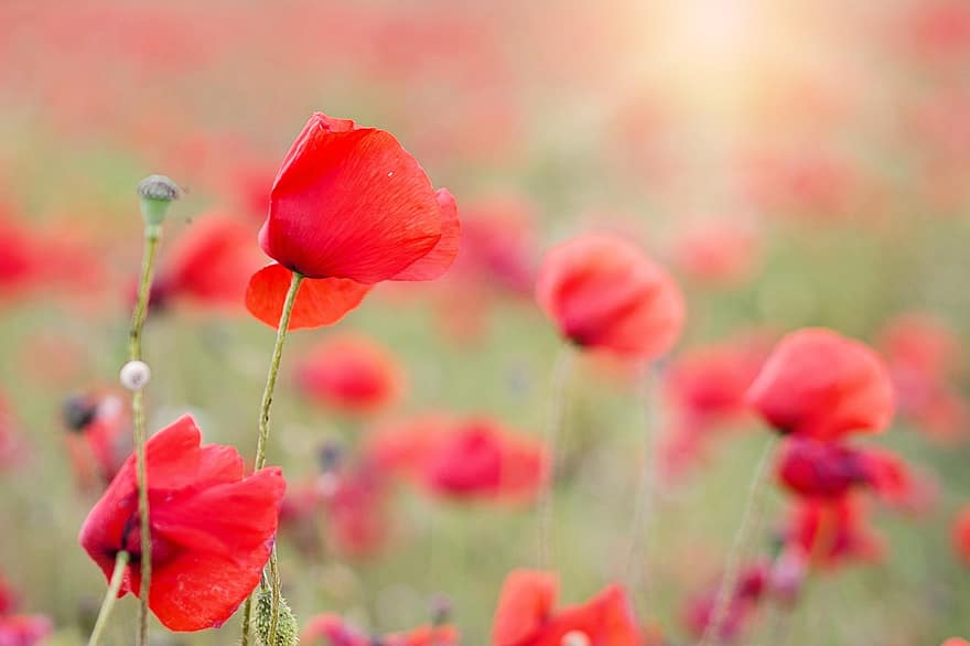
M 667 272 L 623 238 L 588 234 L 542 260 L 536 299 L 579 346 L 653 359 L 680 336 L 685 305 Z

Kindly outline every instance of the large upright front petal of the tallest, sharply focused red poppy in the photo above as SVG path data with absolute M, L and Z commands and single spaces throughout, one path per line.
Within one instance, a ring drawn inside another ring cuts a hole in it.
M 273 184 L 263 251 L 310 278 L 388 280 L 442 234 L 424 170 L 388 132 L 316 114 Z

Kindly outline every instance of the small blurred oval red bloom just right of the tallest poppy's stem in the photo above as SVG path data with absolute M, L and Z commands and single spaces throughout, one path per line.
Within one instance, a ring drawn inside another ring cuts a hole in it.
M 344 412 L 367 413 L 392 403 L 403 389 L 394 356 L 367 336 L 326 338 L 297 367 L 297 384 L 310 399 Z

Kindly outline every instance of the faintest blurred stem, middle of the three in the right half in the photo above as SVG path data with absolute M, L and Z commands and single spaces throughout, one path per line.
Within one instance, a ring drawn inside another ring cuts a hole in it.
M 657 496 L 657 439 L 662 423 L 660 374 L 656 365 L 643 366 L 640 389 L 644 406 L 644 456 L 634 497 L 629 549 L 622 573 L 627 579 L 627 589 L 634 599 L 640 582 L 647 585 L 650 583 L 648 541 Z M 644 603 L 647 604 L 648 601 L 644 600 Z

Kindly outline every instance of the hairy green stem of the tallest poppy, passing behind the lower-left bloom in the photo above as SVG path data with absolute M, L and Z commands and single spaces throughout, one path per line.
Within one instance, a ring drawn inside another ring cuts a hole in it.
M 259 435 L 256 440 L 256 461 L 254 462 L 254 471 L 259 471 L 266 465 L 266 444 L 269 441 L 269 411 L 272 407 L 272 395 L 277 386 L 277 377 L 280 374 L 280 359 L 283 357 L 283 344 L 287 341 L 287 332 L 290 327 L 290 316 L 293 313 L 293 304 L 297 302 L 297 292 L 300 290 L 300 282 L 303 274 L 293 272 L 293 279 L 290 281 L 290 290 L 287 292 L 287 300 L 283 301 L 283 311 L 280 314 L 280 324 L 277 327 L 277 342 L 273 345 L 272 357 L 269 362 L 269 373 L 266 376 L 266 388 L 262 391 L 262 403 L 259 409 Z M 269 585 L 272 590 L 272 615 L 269 627 L 269 644 L 276 644 L 277 622 L 280 612 L 280 569 L 277 560 L 277 549 L 273 546 L 269 556 Z M 249 646 L 249 622 L 252 615 L 252 595 L 246 600 L 242 609 L 242 646 Z

